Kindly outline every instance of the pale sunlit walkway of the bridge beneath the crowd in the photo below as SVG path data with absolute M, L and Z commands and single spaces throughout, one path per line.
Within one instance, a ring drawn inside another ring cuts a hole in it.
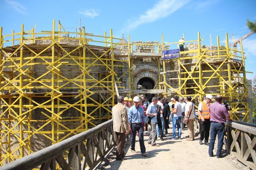
M 169 131 L 172 131 L 170 129 Z M 139 151 L 134 154 L 130 151 L 130 142 L 125 146 L 125 158 L 127 160 L 115 160 L 114 151 L 107 157 L 96 169 L 111 170 L 237 170 L 249 169 L 237 160 L 232 160 L 230 155 L 224 158 L 209 157 L 208 146 L 199 144 L 199 136 L 194 141 L 187 141 L 188 130 L 182 131 L 181 140 L 170 140 L 169 133 L 164 141 L 157 140 L 160 147 L 152 147 L 147 144 L 149 134 L 144 135 L 147 158 L 141 156 L 138 136 L 136 136 L 135 150 Z M 217 142 L 217 141 L 216 141 Z M 216 143 L 217 144 L 217 143 Z M 216 146 L 215 144 L 215 146 Z M 214 150 L 216 154 L 216 150 Z

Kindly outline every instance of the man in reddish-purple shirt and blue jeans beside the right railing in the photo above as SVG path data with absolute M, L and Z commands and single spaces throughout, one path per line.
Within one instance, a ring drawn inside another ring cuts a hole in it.
M 230 115 L 230 107 L 228 111 L 224 105 L 221 104 L 222 96 L 216 95 L 215 103 L 209 106 L 210 110 L 210 121 L 211 121 L 211 130 L 210 130 L 210 144 L 209 144 L 209 156 L 213 156 L 214 142 L 216 135 L 218 134 L 218 149 L 216 152 L 217 158 L 222 158 L 221 150 L 223 146 L 223 139 L 225 133 L 225 123 L 226 118 Z

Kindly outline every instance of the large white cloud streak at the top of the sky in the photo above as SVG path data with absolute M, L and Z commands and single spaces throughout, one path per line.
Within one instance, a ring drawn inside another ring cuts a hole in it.
M 123 32 L 129 32 L 138 26 L 150 22 L 154 22 L 160 18 L 165 18 L 166 16 L 172 14 L 176 10 L 180 9 L 182 6 L 187 4 L 190 0 L 160 0 L 152 8 L 148 9 L 144 14 L 138 16 L 134 20 L 128 20 Z

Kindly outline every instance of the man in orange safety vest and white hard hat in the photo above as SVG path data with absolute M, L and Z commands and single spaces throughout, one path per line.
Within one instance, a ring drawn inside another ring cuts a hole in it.
M 208 139 L 210 135 L 210 111 L 209 106 L 212 101 L 212 95 L 206 95 L 204 101 L 200 102 L 198 105 L 198 118 L 200 121 L 200 140 L 199 143 L 209 145 Z

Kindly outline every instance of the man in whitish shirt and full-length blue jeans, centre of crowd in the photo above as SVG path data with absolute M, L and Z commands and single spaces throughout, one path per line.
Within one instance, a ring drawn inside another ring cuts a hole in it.
M 181 128 L 180 128 L 180 122 L 181 122 L 181 105 L 180 102 L 178 102 L 178 97 L 174 97 L 174 108 L 172 108 L 172 114 L 173 119 L 172 119 L 172 139 L 175 140 L 176 137 L 176 126 L 178 128 L 178 139 L 181 139 Z

